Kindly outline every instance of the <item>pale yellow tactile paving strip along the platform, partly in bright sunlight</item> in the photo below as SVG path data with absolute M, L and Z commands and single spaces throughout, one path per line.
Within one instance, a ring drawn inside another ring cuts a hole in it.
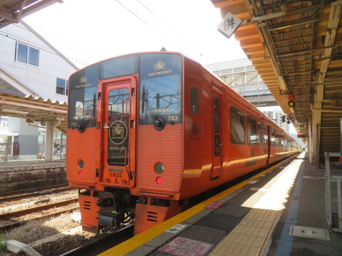
M 301 158 L 301 155 L 298 157 Z M 264 188 L 269 188 L 241 222 L 218 244 L 210 256 L 261 256 L 287 202 L 302 161 L 294 161 Z M 242 204 L 251 207 L 252 199 Z

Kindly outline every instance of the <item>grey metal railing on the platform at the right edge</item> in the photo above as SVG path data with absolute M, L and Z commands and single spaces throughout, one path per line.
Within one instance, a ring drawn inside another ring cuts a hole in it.
M 329 224 L 329 230 L 342 232 L 342 201 L 341 201 L 341 175 L 330 175 L 330 157 L 339 157 L 339 153 L 324 152 L 325 157 L 325 214 Z M 337 183 L 337 197 L 331 197 L 331 182 Z M 332 212 L 332 202 L 337 202 L 337 212 Z M 332 220 L 337 217 L 338 228 L 333 227 Z

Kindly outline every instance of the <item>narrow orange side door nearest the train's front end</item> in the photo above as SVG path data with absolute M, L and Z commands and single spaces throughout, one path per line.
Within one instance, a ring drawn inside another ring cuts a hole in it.
M 213 91 L 213 168 L 211 180 L 220 177 L 222 167 L 221 95 Z

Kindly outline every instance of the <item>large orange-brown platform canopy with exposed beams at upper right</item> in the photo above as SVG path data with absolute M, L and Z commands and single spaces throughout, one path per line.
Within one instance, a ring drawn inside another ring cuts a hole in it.
M 235 39 L 284 113 L 292 118 L 297 132 L 309 135 L 309 123 L 312 125 L 316 157 L 324 159 L 324 152 L 339 152 L 342 0 L 211 3 L 220 8 L 222 19 L 229 12 L 245 25 L 236 30 Z M 296 99 L 291 108 L 293 94 Z

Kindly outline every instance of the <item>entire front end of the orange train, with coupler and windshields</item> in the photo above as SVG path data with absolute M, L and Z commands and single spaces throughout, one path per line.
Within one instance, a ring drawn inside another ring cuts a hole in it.
M 69 79 L 67 176 L 83 230 L 135 219 L 140 233 L 181 212 L 183 56 L 109 59 Z

